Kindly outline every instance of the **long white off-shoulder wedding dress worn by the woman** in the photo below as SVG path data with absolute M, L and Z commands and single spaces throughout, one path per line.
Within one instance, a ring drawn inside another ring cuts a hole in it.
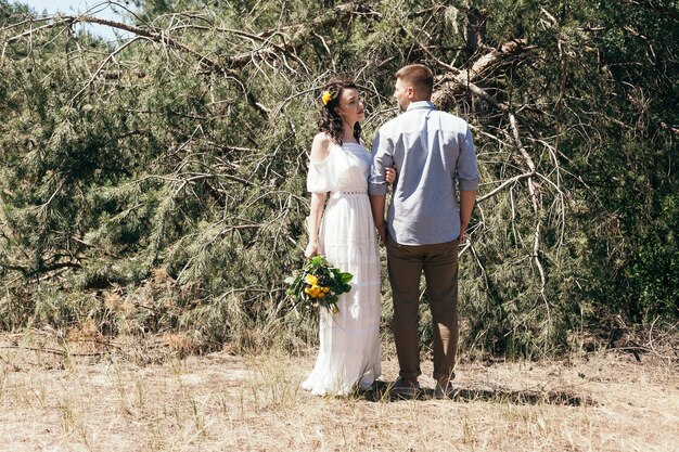
M 321 254 L 354 275 L 340 296 L 340 312 L 321 309 L 320 349 L 302 387 L 319 396 L 370 389 L 382 374 L 380 350 L 380 255 L 368 197 L 371 155 L 360 144 L 331 145 L 330 155 L 311 163 L 307 190 L 331 192 L 321 220 Z

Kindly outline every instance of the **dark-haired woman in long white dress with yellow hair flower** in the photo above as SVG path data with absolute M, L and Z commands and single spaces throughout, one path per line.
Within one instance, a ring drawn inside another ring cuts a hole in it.
M 320 349 L 302 387 L 318 396 L 342 396 L 370 389 L 382 374 L 380 256 L 368 196 L 371 155 L 360 139 L 359 121 L 366 118 L 360 94 L 354 82 L 332 80 L 321 101 L 307 176 L 311 211 L 305 257 L 325 255 L 354 279 L 351 290 L 337 300 L 336 314 L 321 309 Z M 386 171 L 392 183 L 395 170 Z

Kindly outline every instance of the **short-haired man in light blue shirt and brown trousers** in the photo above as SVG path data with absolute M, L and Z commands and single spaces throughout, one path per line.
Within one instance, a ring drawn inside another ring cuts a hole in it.
M 400 378 L 392 390 L 407 398 L 421 393 L 418 305 L 424 271 L 434 328 L 434 396 L 444 399 L 453 393 L 458 347 L 458 244 L 472 216 L 478 170 L 469 125 L 434 107 L 433 87 L 432 72 L 421 64 L 396 73 L 394 98 L 403 113 L 377 132 L 369 192 L 375 225 L 386 243 L 394 299 Z M 385 224 L 384 176 L 390 166 L 398 177 Z

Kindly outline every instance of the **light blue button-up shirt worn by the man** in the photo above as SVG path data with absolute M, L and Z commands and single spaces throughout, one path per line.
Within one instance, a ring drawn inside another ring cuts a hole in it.
M 478 190 L 476 152 L 469 125 L 427 101 L 377 131 L 369 193 L 386 195 L 385 168 L 396 166 L 388 233 L 401 245 L 451 242 L 460 235 L 460 191 Z

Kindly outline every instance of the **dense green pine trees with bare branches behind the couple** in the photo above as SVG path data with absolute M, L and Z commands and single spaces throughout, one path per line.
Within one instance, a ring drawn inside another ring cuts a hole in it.
M 636 332 L 676 333 L 675 1 L 102 3 L 127 20 L 0 0 L 1 330 L 312 344 L 283 280 L 306 245 L 320 89 L 356 79 L 370 145 L 418 62 L 478 152 L 462 347 L 642 352 Z M 389 299 L 385 284 L 385 340 Z

